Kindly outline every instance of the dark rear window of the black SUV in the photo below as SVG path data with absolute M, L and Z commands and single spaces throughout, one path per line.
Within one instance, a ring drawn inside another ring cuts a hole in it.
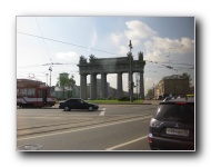
M 155 119 L 161 121 L 181 121 L 194 124 L 194 104 L 162 104 L 158 108 Z

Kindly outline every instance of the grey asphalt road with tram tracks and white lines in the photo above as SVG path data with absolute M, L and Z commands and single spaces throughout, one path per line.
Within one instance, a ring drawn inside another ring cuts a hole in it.
M 99 110 L 17 109 L 18 150 L 143 151 L 157 105 L 100 105 Z

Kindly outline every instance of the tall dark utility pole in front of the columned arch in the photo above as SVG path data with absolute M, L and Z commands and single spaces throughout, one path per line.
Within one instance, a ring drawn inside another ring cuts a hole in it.
M 133 102 L 133 79 L 132 79 L 132 43 L 131 40 L 129 42 L 129 48 L 130 48 L 130 52 L 129 52 L 129 58 L 130 58 L 130 71 L 129 71 L 129 91 L 130 91 L 130 101 Z

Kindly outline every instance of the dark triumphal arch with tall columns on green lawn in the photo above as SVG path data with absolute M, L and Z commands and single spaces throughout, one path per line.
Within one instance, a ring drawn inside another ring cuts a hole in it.
M 144 84 L 143 72 L 145 61 L 143 61 L 143 52 L 138 53 L 138 60 L 133 60 L 132 53 L 129 52 L 127 57 L 118 58 L 101 58 L 98 59 L 93 55 L 90 56 L 89 62 L 83 56 L 79 60 L 79 73 L 80 73 L 80 96 L 82 99 L 87 99 L 87 76 L 90 75 L 90 98 L 97 99 L 97 75 L 101 75 L 101 91 L 102 98 L 108 98 L 107 75 L 117 73 L 117 97 L 121 98 L 123 95 L 122 89 L 122 73 L 129 73 L 129 82 L 132 82 L 132 73 L 138 72 L 140 76 L 140 97 L 144 97 Z M 132 88 L 133 89 L 133 88 Z M 132 91 L 129 89 L 129 92 Z

